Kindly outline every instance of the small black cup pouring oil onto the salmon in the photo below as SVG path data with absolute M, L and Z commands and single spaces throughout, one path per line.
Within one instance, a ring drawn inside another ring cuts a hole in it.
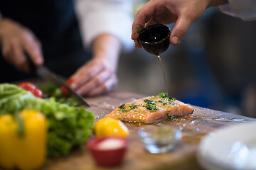
M 170 35 L 171 30 L 167 26 L 155 24 L 141 31 L 139 34 L 139 42 L 147 52 L 153 55 L 159 55 L 169 47 Z

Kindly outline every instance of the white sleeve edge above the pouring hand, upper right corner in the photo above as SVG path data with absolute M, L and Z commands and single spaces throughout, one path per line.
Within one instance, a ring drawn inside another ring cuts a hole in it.
M 220 11 L 230 16 L 242 18 L 244 21 L 256 20 L 255 0 L 228 0 L 228 3 L 220 6 Z

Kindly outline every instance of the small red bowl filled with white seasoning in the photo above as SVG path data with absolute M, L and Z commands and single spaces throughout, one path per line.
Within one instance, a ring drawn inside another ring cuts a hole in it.
M 108 142 L 110 140 L 119 140 L 120 146 L 100 147 L 100 144 L 106 142 L 106 140 L 109 140 Z M 87 147 L 95 159 L 96 164 L 107 167 L 117 166 L 122 163 L 127 145 L 127 139 L 122 137 L 93 137 L 87 142 Z

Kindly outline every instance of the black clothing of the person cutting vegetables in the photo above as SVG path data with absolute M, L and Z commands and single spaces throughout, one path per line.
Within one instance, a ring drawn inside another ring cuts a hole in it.
M 33 31 L 41 41 L 45 64 L 53 72 L 69 77 L 90 60 L 90 52 L 82 47 L 73 0 L 1 0 L 0 11 Z M 31 76 L 18 72 L 0 54 L 0 82 Z

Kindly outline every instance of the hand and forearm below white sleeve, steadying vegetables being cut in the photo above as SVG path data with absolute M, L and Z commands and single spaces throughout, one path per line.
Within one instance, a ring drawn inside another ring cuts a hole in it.
M 115 89 L 120 43 L 112 35 L 100 35 L 93 42 L 93 58 L 78 69 L 71 88 L 82 96 L 96 96 Z

